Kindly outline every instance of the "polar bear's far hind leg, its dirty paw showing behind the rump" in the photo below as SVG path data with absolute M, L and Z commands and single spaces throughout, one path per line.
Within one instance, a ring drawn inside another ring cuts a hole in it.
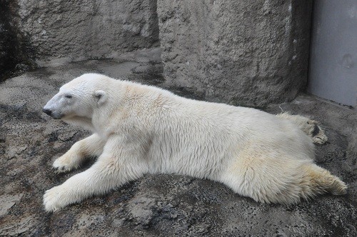
M 313 143 L 317 143 L 317 144 L 326 143 L 327 136 L 325 134 L 325 131 L 323 131 L 323 128 L 321 128 L 321 125 L 318 123 L 318 121 L 308 119 L 300 115 L 292 115 L 289 114 L 288 112 L 277 114 L 276 116 L 278 118 L 288 119 L 293 123 L 296 123 L 296 125 L 299 128 L 301 128 L 301 130 L 304 133 L 306 133 L 306 135 L 311 136 L 311 138 L 313 139 Z

